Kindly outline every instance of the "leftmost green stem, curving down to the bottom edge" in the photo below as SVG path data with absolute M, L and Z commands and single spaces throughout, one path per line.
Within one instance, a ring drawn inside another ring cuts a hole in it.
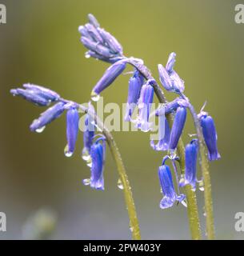
M 138 217 L 134 205 L 134 199 L 130 188 L 130 182 L 126 174 L 126 168 L 122 162 L 122 157 L 118 150 L 118 146 L 116 145 L 112 134 L 109 130 L 107 130 L 107 128 L 104 126 L 103 122 L 98 118 L 98 116 L 94 114 L 94 112 L 88 110 L 85 106 L 81 105 L 80 108 L 86 113 L 90 114 L 92 118 L 94 118 L 95 122 L 97 123 L 97 126 L 102 130 L 102 133 L 106 137 L 106 142 L 110 147 L 111 154 L 116 163 L 118 174 L 122 182 L 124 197 L 126 201 L 126 209 L 128 211 L 130 219 L 130 230 L 132 232 L 132 238 L 134 240 L 140 240 L 141 234 L 139 229 Z

